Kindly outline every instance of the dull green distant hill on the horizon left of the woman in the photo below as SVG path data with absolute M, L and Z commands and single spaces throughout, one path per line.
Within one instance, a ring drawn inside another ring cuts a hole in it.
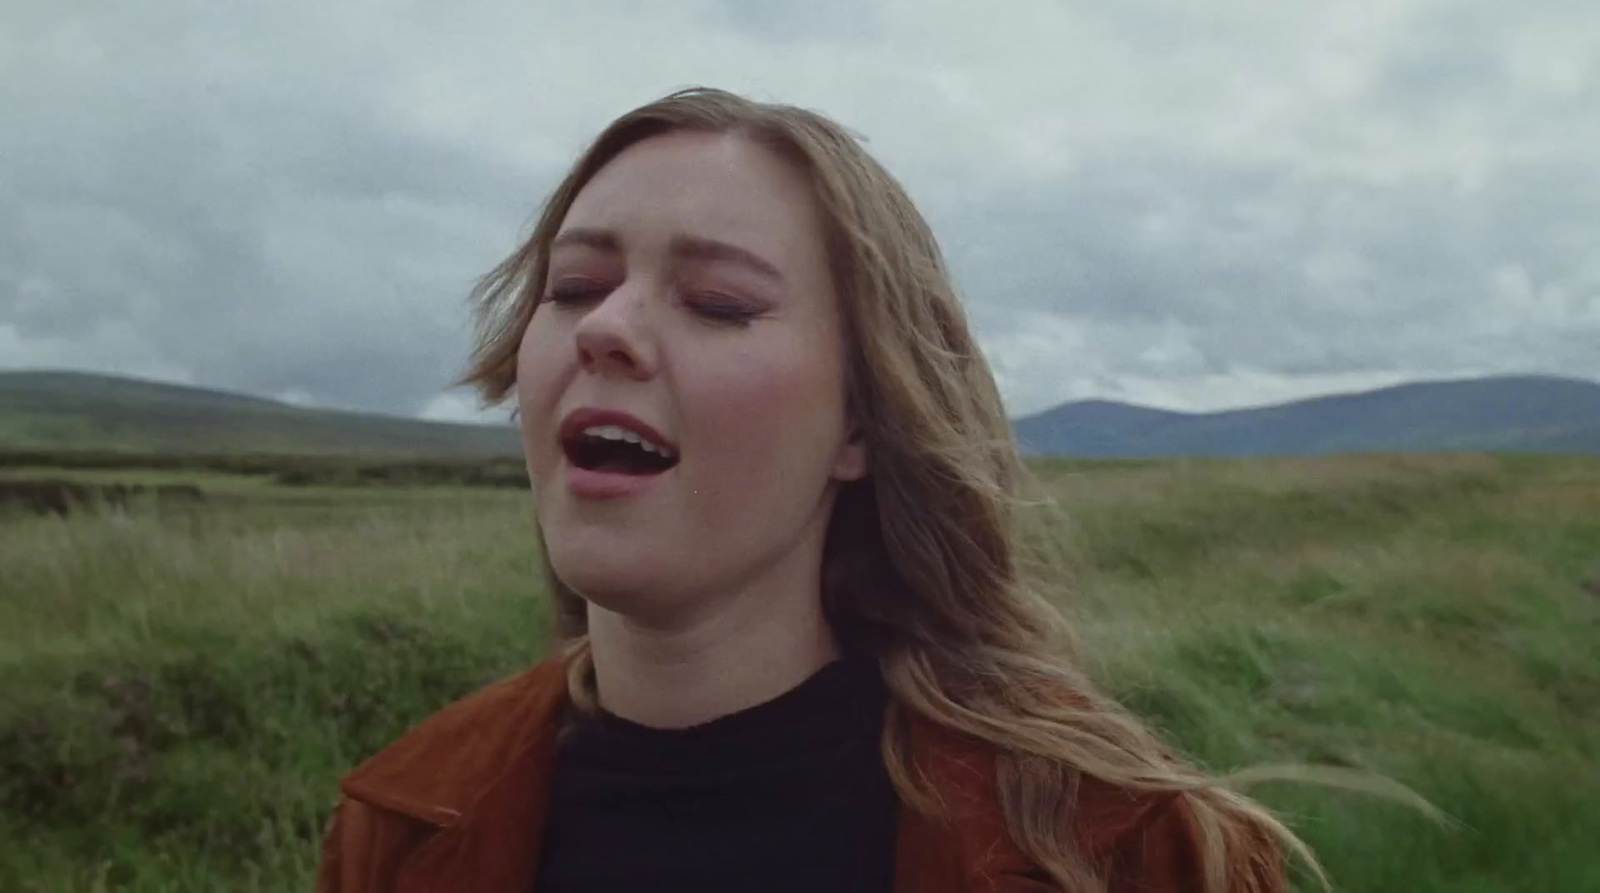
M 510 426 L 309 410 L 203 387 L 0 371 L 0 450 L 517 456 Z

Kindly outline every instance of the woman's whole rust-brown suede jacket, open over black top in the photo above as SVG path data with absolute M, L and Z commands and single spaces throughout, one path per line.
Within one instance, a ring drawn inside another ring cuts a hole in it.
M 565 666 L 550 659 L 456 701 L 357 767 L 339 786 L 318 893 L 531 893 L 565 703 Z M 926 722 L 912 725 L 910 746 L 949 815 L 902 810 L 894 893 L 1054 891 L 1006 834 L 994 754 Z M 1197 831 L 1171 795 L 1085 779 L 1077 835 L 1110 893 L 1202 888 Z

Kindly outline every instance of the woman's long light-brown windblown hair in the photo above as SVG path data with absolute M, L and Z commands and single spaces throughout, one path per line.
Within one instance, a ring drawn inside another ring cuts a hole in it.
M 1179 797 L 1206 893 L 1264 893 L 1262 842 L 1310 851 L 1266 808 L 1176 759 L 1102 695 L 1064 648 L 1064 621 L 1027 571 L 1018 514 L 1029 477 L 939 246 L 906 190 L 845 128 L 792 106 L 682 90 L 627 112 L 582 154 L 531 235 L 474 293 L 464 381 L 515 387 L 517 350 L 578 192 L 629 146 L 667 131 L 731 133 L 794 163 L 816 195 L 843 318 L 848 406 L 872 474 L 843 485 L 824 551 L 824 607 L 845 650 L 872 655 L 891 693 L 883 757 L 899 795 L 938 810 L 910 765 L 906 711 L 995 749 L 1011 837 L 1062 890 L 1104 890 L 1067 829 L 1083 776 Z M 858 411 L 867 410 L 867 411 Z M 574 698 L 592 701 L 582 599 L 554 573 Z

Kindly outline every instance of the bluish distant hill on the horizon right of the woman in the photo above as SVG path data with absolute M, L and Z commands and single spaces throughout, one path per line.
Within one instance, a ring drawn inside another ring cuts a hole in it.
M 1106 400 L 1016 421 L 1030 455 L 1600 453 L 1600 384 L 1507 376 L 1400 384 L 1222 413 Z

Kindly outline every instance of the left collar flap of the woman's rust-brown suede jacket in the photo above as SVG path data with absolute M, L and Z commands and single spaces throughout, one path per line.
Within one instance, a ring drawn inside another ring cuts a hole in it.
M 450 824 L 523 754 L 554 739 L 566 703 L 566 664 L 547 659 L 427 717 L 355 767 L 346 797 Z

